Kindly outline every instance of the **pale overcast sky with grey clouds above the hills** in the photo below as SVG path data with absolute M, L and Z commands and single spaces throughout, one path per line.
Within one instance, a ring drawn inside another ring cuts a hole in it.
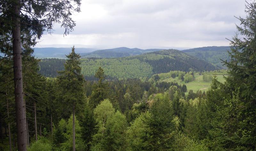
M 250 1 L 250 0 L 249 0 Z M 227 46 L 244 0 L 82 0 L 74 31 L 54 26 L 36 47 L 195 48 Z

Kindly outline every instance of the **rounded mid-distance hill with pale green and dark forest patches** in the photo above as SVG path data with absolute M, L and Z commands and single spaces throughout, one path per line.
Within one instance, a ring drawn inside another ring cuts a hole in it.
M 42 60 L 40 73 L 55 77 L 56 69 L 61 69 L 63 60 Z M 59 67 L 54 67 L 54 66 Z M 108 78 L 138 78 L 150 77 L 157 73 L 166 73 L 171 70 L 188 72 L 216 70 L 215 66 L 204 60 L 189 56 L 179 50 L 163 50 L 124 58 L 83 58 L 81 59 L 82 74 L 86 79 L 93 79 L 95 72 L 102 67 Z

